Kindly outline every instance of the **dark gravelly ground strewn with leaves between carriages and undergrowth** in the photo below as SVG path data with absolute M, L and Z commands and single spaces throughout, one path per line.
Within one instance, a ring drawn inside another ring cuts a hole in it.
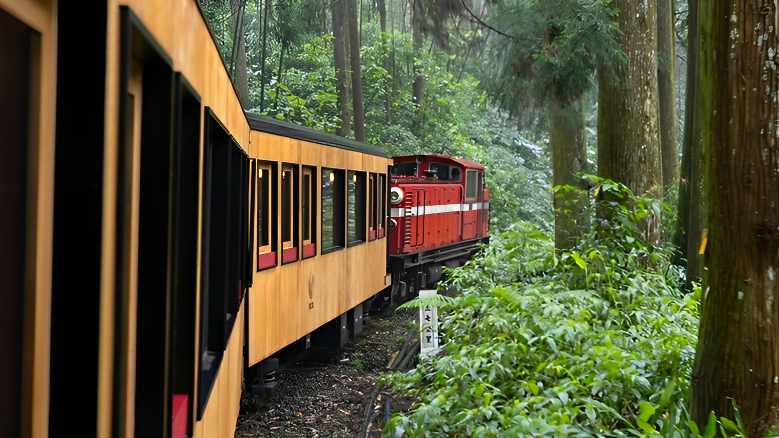
M 417 318 L 416 310 L 372 315 L 358 338 L 331 363 L 298 362 L 282 368 L 270 398 L 244 392 L 235 438 L 382 436 L 387 394 L 376 382 Z M 392 401 L 390 409 L 407 408 L 407 403 Z

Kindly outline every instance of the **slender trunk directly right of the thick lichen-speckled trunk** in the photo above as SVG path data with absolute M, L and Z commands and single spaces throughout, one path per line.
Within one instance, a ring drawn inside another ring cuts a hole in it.
M 679 180 L 679 144 L 676 141 L 676 50 L 673 0 L 657 2 L 657 89 L 660 99 L 660 149 L 663 194 Z

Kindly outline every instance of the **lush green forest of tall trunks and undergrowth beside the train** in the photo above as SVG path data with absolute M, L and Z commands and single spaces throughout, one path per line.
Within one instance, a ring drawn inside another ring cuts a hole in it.
M 776 2 L 199 2 L 246 111 L 485 166 L 386 436 L 779 435 Z

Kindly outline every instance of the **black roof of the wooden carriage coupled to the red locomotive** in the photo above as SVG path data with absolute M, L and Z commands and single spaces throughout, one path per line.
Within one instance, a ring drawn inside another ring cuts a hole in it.
M 387 153 L 374 145 L 357 142 L 349 138 L 339 137 L 325 132 L 315 131 L 299 124 L 288 121 L 280 121 L 273 117 L 259 116 L 257 114 L 246 113 L 249 120 L 249 128 L 253 131 L 268 132 L 270 134 L 282 135 L 289 138 L 297 138 L 307 142 L 319 143 L 321 145 L 334 146 L 341 149 L 348 149 L 354 152 L 367 153 L 375 156 L 386 157 Z

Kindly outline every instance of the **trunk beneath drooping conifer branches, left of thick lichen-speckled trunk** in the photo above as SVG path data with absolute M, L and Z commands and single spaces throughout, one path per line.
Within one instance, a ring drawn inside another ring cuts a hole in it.
M 550 107 L 552 145 L 552 186 L 572 185 L 583 188 L 576 173 L 587 163 L 587 142 L 584 136 L 582 100 L 574 100 L 566 107 L 552 103 Z M 565 197 L 555 196 L 555 247 L 569 249 L 590 228 L 587 212 L 587 191 L 569 192 Z

